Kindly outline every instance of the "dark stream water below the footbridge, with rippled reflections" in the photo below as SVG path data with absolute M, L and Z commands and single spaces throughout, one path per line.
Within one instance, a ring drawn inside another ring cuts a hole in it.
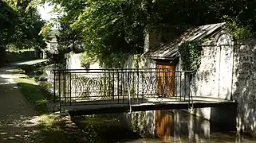
M 240 136 L 216 123 L 209 122 L 187 114 L 181 110 L 171 112 L 163 111 L 170 118 L 171 130 L 167 142 L 192 142 L 192 143 L 252 143 L 256 139 L 249 136 Z M 159 137 L 141 137 L 126 126 L 122 120 L 123 114 L 100 114 L 91 116 L 73 117 L 73 122 L 84 130 L 89 142 L 100 143 L 160 143 L 164 142 Z M 165 117 L 166 118 L 166 117 Z M 170 124 L 168 124 L 170 125 Z

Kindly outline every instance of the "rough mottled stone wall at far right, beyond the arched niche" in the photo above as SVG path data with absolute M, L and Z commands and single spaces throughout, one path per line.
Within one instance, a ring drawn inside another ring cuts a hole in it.
M 256 44 L 234 45 L 233 99 L 238 102 L 237 129 L 256 135 Z

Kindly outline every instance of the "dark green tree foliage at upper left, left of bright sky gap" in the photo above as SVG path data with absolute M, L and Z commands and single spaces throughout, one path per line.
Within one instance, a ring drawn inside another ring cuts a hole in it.
M 45 41 L 43 41 L 43 37 L 39 36 L 45 21 L 41 20 L 37 9 L 26 11 L 29 2 L 26 0 L 16 6 L 18 23 L 16 23 L 15 33 L 10 42 L 16 48 L 45 48 Z

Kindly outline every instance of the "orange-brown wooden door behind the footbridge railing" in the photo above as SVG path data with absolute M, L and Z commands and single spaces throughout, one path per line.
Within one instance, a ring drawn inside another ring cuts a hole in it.
M 157 95 L 161 97 L 172 97 L 175 95 L 175 62 L 157 62 Z

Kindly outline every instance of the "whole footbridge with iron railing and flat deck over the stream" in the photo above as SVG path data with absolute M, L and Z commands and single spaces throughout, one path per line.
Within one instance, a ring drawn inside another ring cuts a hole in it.
M 191 72 L 169 69 L 55 70 L 54 99 L 60 110 L 81 114 L 171 110 L 234 104 L 192 96 Z

